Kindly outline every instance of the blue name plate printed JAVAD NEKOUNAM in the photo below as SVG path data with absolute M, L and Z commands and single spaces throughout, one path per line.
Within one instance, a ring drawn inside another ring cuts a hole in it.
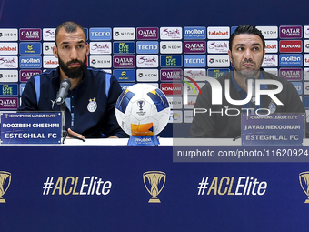
M 243 146 L 302 146 L 304 114 L 242 114 Z

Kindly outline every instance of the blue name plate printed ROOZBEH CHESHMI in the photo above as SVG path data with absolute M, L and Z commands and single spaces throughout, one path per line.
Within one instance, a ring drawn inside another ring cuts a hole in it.
M 3 113 L 1 143 L 60 144 L 61 113 Z

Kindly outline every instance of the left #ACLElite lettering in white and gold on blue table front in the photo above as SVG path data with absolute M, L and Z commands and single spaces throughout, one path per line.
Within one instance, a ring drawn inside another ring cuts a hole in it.
M 43 195 L 106 196 L 111 188 L 112 182 L 102 177 L 47 177 Z

